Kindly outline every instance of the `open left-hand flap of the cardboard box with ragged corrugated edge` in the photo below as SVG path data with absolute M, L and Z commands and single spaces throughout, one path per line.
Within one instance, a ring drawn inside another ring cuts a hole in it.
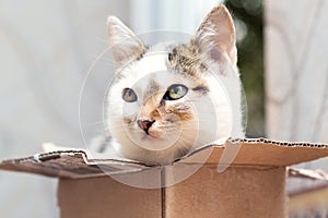
M 110 172 L 106 172 L 107 174 L 138 172 L 149 168 L 141 162 L 132 160 L 89 159 L 84 150 L 43 153 L 0 162 L 0 169 L 3 170 L 70 179 L 104 177 L 106 175 L 104 172 L 106 166 L 110 166 L 107 167 L 110 170 Z

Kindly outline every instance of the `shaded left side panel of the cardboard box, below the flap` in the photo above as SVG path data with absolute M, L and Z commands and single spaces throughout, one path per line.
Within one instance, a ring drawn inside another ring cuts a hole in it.
M 161 189 L 136 189 L 109 177 L 60 179 L 58 206 L 61 218 L 162 216 Z

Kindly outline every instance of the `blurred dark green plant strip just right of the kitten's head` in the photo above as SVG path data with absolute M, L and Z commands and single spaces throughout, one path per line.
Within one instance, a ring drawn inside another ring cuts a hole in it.
M 247 136 L 265 136 L 262 0 L 226 0 L 237 36 L 238 66 L 247 98 Z

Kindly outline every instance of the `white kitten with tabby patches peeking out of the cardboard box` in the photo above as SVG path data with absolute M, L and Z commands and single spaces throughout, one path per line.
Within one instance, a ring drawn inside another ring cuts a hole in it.
M 145 46 L 117 17 L 107 25 L 117 68 L 106 144 L 120 156 L 167 165 L 215 140 L 244 137 L 236 35 L 223 4 L 185 45 Z

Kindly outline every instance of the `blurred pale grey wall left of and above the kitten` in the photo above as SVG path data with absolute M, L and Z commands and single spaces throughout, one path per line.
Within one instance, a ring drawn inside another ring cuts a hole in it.
M 108 14 L 137 33 L 157 28 L 194 33 L 219 1 L 165 2 L 0 0 L 0 158 L 38 153 L 49 141 L 83 147 L 79 93 L 87 69 L 107 48 Z M 112 73 L 110 68 L 98 70 Z M 89 81 L 86 120 L 97 119 L 103 84 L 99 78 Z M 0 217 L 58 217 L 56 183 L 0 171 Z

